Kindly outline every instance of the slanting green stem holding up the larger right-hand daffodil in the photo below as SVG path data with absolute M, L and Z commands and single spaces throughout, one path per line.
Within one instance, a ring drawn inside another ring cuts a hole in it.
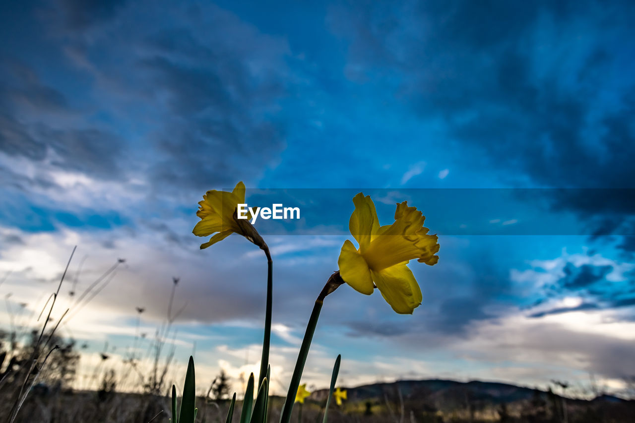
M 293 412 L 293 403 L 295 403 L 295 395 L 298 393 L 298 386 L 300 386 L 300 379 L 302 379 L 302 372 L 304 371 L 304 364 L 307 361 L 309 355 L 309 348 L 311 348 L 311 340 L 313 339 L 313 333 L 318 325 L 319 312 L 322 310 L 324 304 L 324 298 L 326 295 L 337 290 L 338 286 L 342 285 L 344 281 L 340 276 L 340 272 L 337 271 L 328 278 L 326 285 L 322 289 L 322 292 L 318 295 L 313 311 L 311 312 L 311 318 L 309 318 L 309 324 L 307 330 L 304 333 L 304 339 L 302 339 L 302 346 L 298 354 L 298 360 L 295 362 L 295 368 L 293 369 L 293 376 L 291 376 L 291 382 L 289 385 L 289 391 L 286 393 L 286 400 L 282 413 L 280 415 L 281 423 L 289 423 L 291 421 L 291 413 Z

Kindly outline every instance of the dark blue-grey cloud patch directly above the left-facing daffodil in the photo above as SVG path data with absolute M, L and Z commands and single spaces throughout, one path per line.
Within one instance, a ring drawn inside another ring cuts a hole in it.
M 171 116 L 157 137 L 159 161 L 152 175 L 160 184 L 205 189 L 233 184 L 241 174 L 262 168 L 283 147 L 283 128 L 258 111 L 284 95 L 278 76 L 258 77 L 245 58 L 206 46 L 190 32 L 171 31 L 152 39 L 161 56 L 140 62 L 166 98 Z M 191 55 L 187 61 L 176 56 Z M 190 59 L 194 59 L 192 64 Z

